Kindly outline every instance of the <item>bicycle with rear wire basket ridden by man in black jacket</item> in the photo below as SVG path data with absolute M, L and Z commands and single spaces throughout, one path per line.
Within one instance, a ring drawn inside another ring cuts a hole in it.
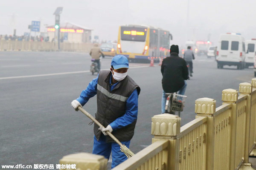
M 180 117 L 180 112 L 183 111 L 185 99 L 187 96 L 176 94 L 176 93 L 166 93 L 166 106 L 165 113 L 175 114 L 178 112 L 178 116 Z

